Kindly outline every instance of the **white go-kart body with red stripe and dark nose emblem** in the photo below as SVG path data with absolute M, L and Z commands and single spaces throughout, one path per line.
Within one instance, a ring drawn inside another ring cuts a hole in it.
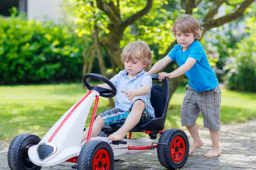
M 53 166 L 78 157 L 82 145 L 85 143 L 81 144 L 82 131 L 93 101 L 99 95 L 97 91 L 89 91 L 50 128 L 38 145 L 28 149 L 28 157 L 33 164 Z M 97 108 L 96 104 L 95 107 Z M 151 146 L 152 140 L 146 137 L 135 140 L 124 139 L 127 144 L 119 145 L 113 145 L 112 141 L 107 140 L 107 137 L 91 137 L 90 140 L 102 140 L 109 143 L 114 153 L 114 159 L 132 157 L 153 147 Z

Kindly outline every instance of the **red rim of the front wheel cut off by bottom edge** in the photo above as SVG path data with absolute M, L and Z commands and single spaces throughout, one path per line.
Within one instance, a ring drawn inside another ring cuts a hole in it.
M 105 149 L 100 149 L 96 152 L 92 162 L 93 170 L 110 169 L 110 154 Z

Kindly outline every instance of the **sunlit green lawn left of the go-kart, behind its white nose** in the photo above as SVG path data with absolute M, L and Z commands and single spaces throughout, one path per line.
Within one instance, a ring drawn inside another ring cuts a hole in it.
M 0 139 L 23 132 L 43 137 L 86 93 L 81 84 L 0 86 Z M 100 99 L 99 112 L 107 106 L 107 100 Z

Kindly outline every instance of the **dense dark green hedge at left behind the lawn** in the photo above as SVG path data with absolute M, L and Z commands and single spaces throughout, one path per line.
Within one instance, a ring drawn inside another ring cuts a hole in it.
M 80 79 L 82 42 L 65 26 L 0 18 L 0 84 Z

